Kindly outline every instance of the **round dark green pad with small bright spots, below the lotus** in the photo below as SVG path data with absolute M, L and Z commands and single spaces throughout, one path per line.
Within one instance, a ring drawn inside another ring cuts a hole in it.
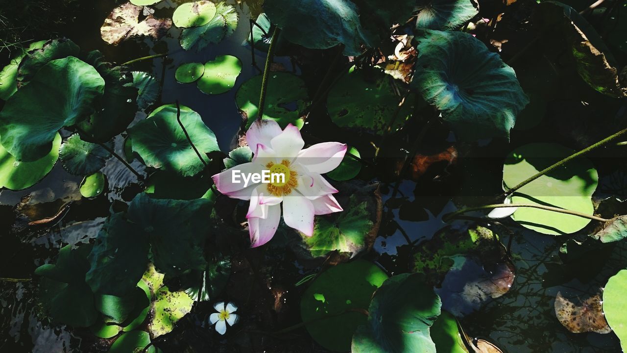
M 300 315 L 309 334 L 326 349 L 347 352 L 353 333 L 366 322 L 362 313 L 349 310 L 366 310 L 372 293 L 386 279 L 380 268 L 361 259 L 321 273 L 300 300 Z

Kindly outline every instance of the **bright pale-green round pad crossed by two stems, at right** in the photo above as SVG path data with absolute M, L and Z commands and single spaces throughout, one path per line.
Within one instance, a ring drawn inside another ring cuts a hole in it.
M 503 165 L 503 185 L 514 187 L 529 176 L 551 166 L 574 151 L 555 143 L 530 143 L 510 153 Z M 591 197 L 599 176 L 591 161 L 576 158 L 547 175 L 542 175 L 512 195 L 512 204 L 540 204 L 561 207 L 592 215 Z M 590 220 L 548 210 L 519 207 L 512 219 L 520 225 L 544 234 L 571 234 Z

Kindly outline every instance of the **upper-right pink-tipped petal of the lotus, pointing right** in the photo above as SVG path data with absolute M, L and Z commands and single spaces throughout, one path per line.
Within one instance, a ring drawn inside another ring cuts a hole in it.
M 298 153 L 297 163 L 307 167 L 312 173 L 329 173 L 340 165 L 347 146 L 339 142 L 314 144 Z

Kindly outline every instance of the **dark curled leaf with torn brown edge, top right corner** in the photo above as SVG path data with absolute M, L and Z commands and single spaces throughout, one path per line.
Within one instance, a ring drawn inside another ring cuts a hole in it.
M 542 1 L 536 19 L 543 33 L 552 34 L 551 45 L 558 43 L 572 55 L 579 76 L 590 87 L 611 97 L 627 96 L 627 87 L 619 83 L 618 63 L 581 14 L 558 1 Z

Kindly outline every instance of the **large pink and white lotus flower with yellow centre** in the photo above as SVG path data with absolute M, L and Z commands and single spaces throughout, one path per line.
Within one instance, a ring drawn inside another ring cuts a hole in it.
M 344 158 L 346 144 L 325 142 L 303 149 L 300 131 L 289 124 L 281 130 L 273 120 L 255 121 L 246 132 L 253 161 L 214 175 L 219 192 L 232 198 L 250 200 L 248 229 L 252 246 L 272 239 L 281 219 L 307 236 L 314 233 L 314 215 L 339 212 L 336 193 L 322 173 L 334 170 Z M 264 179 L 251 175 L 283 175 Z M 240 176 L 240 177 L 238 177 Z M 246 180 L 248 176 L 248 180 Z

